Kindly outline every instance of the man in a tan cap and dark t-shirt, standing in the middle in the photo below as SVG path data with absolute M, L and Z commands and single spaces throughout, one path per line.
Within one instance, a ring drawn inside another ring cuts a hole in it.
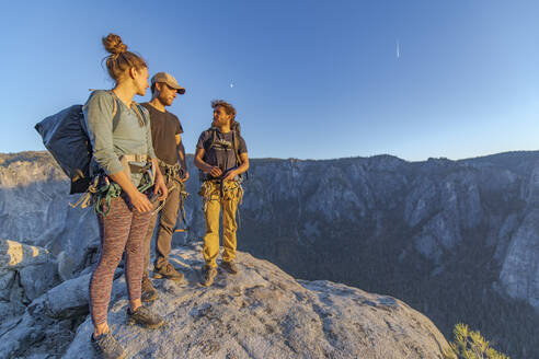
M 165 109 L 172 105 L 177 94 L 183 95 L 185 89 L 177 84 L 176 79 L 167 72 L 158 72 L 151 79 L 151 101 L 142 103 L 150 113 L 151 139 L 158 158 L 159 167 L 165 178 L 169 197 L 159 211 L 159 228 L 156 239 L 156 259 L 153 262 L 153 278 L 182 280 L 183 274 L 176 271 L 169 262 L 172 234 L 177 220 L 180 202 L 185 193 L 184 182 L 188 178 L 185 165 L 185 150 L 181 134 L 180 119 Z M 148 275 L 150 263 L 150 244 L 153 236 L 158 215 L 153 215 L 145 242 L 145 273 L 142 276 L 142 301 L 157 299 Z

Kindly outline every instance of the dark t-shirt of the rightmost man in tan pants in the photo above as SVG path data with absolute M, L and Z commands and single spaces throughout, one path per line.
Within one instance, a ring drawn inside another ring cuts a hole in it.
M 214 142 L 215 131 L 215 142 Z M 222 134 L 219 129 L 207 129 L 198 137 L 197 149 L 204 149 L 203 161 L 209 165 L 216 165 L 225 173 L 236 167 L 236 154 L 233 150 L 233 137 L 238 143 L 238 154 L 246 153 L 246 144 L 243 137 L 236 131 Z M 211 146 L 214 142 L 214 146 Z

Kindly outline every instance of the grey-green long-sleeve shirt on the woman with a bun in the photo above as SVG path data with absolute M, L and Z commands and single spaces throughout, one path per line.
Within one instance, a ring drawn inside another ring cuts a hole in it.
M 115 101 L 119 120 L 113 132 Z M 123 154 L 147 154 L 156 158 L 151 143 L 150 116 L 146 108 L 141 109 L 146 119 L 145 126 L 140 126 L 136 109 L 128 108 L 111 91 L 98 90 L 88 99 L 83 114 L 93 157 L 106 174 L 115 174 L 124 170 L 118 159 Z M 139 173 L 131 174 L 131 182 L 135 186 L 138 186 L 141 176 Z

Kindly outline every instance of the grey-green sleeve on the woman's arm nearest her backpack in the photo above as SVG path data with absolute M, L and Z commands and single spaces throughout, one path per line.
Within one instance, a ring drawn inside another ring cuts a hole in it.
M 114 101 L 106 91 L 96 91 L 90 95 L 83 108 L 93 157 L 100 167 L 108 175 L 124 170 L 113 146 Z M 116 111 L 118 112 L 119 108 Z

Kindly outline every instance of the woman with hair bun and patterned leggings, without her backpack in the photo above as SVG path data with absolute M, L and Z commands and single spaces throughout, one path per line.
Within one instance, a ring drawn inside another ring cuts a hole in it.
M 101 173 L 101 188 L 108 188 L 100 199 L 98 211 L 101 251 L 90 279 L 90 313 L 94 325 L 92 346 L 103 358 L 124 358 L 124 348 L 114 339 L 107 325 L 114 271 L 126 253 L 125 278 L 130 324 L 156 328 L 163 324 L 160 315 L 142 306 L 140 287 L 144 271 L 142 241 L 148 230 L 152 205 L 148 196 L 167 197 L 163 176 L 157 165 L 151 143 L 149 114 L 133 101 L 144 96 L 148 84 L 148 66 L 128 51 L 115 34 L 103 37 L 111 54 L 106 58 L 108 74 L 115 81 L 112 91 L 99 90 L 83 107 L 93 148 L 93 159 Z M 151 166 L 152 165 L 152 166 Z M 153 192 L 151 171 L 154 169 Z

